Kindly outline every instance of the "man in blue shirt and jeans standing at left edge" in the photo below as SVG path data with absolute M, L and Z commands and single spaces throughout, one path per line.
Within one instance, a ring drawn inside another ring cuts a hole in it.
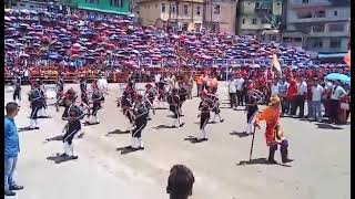
M 18 161 L 20 151 L 18 128 L 14 124 L 14 117 L 19 113 L 19 106 L 14 102 L 10 102 L 6 106 L 7 115 L 4 117 L 4 195 L 16 196 L 13 190 L 23 189 L 18 186 L 13 179 L 13 172 Z

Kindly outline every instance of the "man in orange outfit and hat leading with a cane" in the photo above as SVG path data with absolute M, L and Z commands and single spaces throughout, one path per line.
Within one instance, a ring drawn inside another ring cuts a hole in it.
M 281 114 L 281 102 L 278 96 L 272 96 L 270 98 L 268 106 L 263 109 L 263 112 L 258 113 L 255 116 L 254 126 L 260 128 L 258 123 L 261 121 L 266 122 L 266 130 L 265 130 L 265 138 L 266 138 L 266 145 L 270 148 L 268 153 L 268 163 L 271 164 L 277 164 L 274 159 L 275 151 L 277 150 L 277 145 L 281 145 L 281 157 L 282 161 L 291 163 L 292 159 L 288 159 L 288 142 L 281 135 L 281 128 L 280 128 L 280 114 Z

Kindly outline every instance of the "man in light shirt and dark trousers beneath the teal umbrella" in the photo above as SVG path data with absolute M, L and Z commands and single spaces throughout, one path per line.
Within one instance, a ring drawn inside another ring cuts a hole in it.
M 337 107 L 339 105 L 339 98 L 346 95 L 345 90 L 341 86 L 339 81 L 334 81 L 332 88 L 331 101 L 329 101 L 329 123 L 338 123 L 337 119 Z

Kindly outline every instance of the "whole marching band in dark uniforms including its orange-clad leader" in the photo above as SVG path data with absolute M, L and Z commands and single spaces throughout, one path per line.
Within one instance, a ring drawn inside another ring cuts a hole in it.
M 98 112 L 102 108 L 104 103 L 104 95 L 108 95 L 106 83 L 100 83 L 104 80 L 104 75 L 100 74 L 99 78 L 93 81 L 91 85 L 88 85 L 85 77 L 80 80 L 80 98 L 78 93 L 70 87 L 64 93 L 64 83 L 62 78 L 57 83 L 57 102 L 55 107 L 59 112 L 59 106 L 64 106 L 62 113 L 62 119 L 68 121 L 63 129 L 63 148 L 64 153 L 61 155 L 63 158 L 77 159 L 73 151 L 73 138 L 75 136 L 82 136 L 79 132 L 81 128 L 81 121 L 85 119 L 84 125 L 98 125 L 100 124 Z M 236 86 L 237 88 L 237 86 Z M 21 86 L 16 84 L 13 96 L 21 96 L 18 92 Z M 126 147 L 128 150 L 143 150 L 144 144 L 142 140 L 142 134 L 148 125 L 148 122 L 153 119 L 152 114 L 155 115 L 156 109 L 168 105 L 169 111 L 173 113 L 171 128 L 179 128 L 184 126 L 182 121 L 183 104 L 190 98 L 191 88 L 187 86 L 186 81 L 179 81 L 178 84 L 172 84 L 168 80 L 160 77 L 155 84 L 148 83 L 145 91 L 138 90 L 135 83 L 130 78 L 122 93 L 122 96 L 118 97 L 118 107 L 121 108 L 122 114 L 128 118 L 130 126 L 125 126 L 124 133 L 132 135 L 131 145 Z M 201 102 L 197 111 L 200 111 L 200 128 L 196 136 L 192 139 L 194 143 L 201 143 L 209 140 L 209 134 L 206 130 L 207 124 L 214 124 L 217 122 L 223 123 L 224 119 L 221 116 L 220 97 L 217 92 L 217 81 L 211 83 L 207 86 L 199 87 L 199 96 Z M 44 85 L 40 81 L 36 81 L 31 85 L 29 93 L 29 101 L 31 102 L 31 116 L 30 116 L 30 129 L 39 129 L 37 119 L 39 117 L 49 117 L 47 114 L 45 96 L 48 92 Z M 233 101 L 233 98 L 231 98 Z M 158 102 L 158 103 L 155 103 Z M 232 102 L 233 103 L 233 102 Z M 245 112 L 246 112 L 246 134 L 253 134 L 255 127 L 260 128 L 260 122 L 266 122 L 266 145 L 270 148 L 268 161 L 276 164 L 274 160 L 274 154 L 277 146 L 281 146 L 282 161 L 290 163 L 292 159 L 287 157 L 288 143 L 283 135 L 280 115 L 281 115 L 281 100 L 277 96 L 272 96 L 268 106 L 258 112 L 257 97 L 254 96 L 250 90 L 245 97 Z

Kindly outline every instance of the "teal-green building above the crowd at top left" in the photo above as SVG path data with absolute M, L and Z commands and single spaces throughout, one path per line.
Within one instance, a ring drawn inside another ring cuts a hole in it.
M 130 13 L 129 0 L 65 0 L 68 4 L 75 9 L 93 12 L 126 15 Z

